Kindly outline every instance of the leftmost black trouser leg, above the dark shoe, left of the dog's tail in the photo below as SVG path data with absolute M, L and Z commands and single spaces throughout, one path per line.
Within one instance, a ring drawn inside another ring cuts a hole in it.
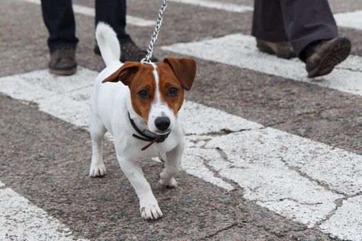
M 77 47 L 75 21 L 71 0 L 41 0 L 43 20 L 49 31 L 48 47 L 50 52 L 63 46 Z

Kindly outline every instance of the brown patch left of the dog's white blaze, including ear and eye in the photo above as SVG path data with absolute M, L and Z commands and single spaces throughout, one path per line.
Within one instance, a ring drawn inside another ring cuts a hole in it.
M 132 107 L 143 118 L 145 123 L 148 122 L 148 115 L 150 114 L 156 90 L 152 71 L 152 65 L 125 62 L 119 70 L 102 81 L 102 83 L 121 81 L 124 85 L 128 85 Z

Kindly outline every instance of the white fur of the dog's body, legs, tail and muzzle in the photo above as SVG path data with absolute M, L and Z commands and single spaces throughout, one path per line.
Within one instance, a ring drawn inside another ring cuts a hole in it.
M 163 215 L 158 202 L 152 193 L 151 187 L 143 176 L 140 161 L 151 157 L 164 156 L 165 168 L 160 174 L 160 184 L 168 187 L 177 187 L 174 176 L 179 171 L 183 154 L 183 114 L 179 112 L 178 118 L 174 116 L 167 104 L 163 103 L 161 96 L 152 103 L 150 118 L 165 114 L 171 120 L 170 135 L 163 143 L 153 144 L 145 151 L 141 148 L 148 143 L 132 136 L 137 134 L 128 120 L 128 112 L 139 129 L 153 129 L 152 121 L 148 125 L 132 108 L 130 90 L 123 83 L 101 83 L 123 65 L 119 61 L 119 42 L 110 26 L 99 23 L 96 30 L 97 41 L 101 54 L 107 67 L 97 76 L 94 83 L 94 92 L 90 98 L 90 136 L 92 138 L 92 163 L 90 176 L 103 176 L 105 165 L 102 158 L 101 142 L 105 132 L 114 137 L 117 160 L 125 176 L 134 187 L 140 202 L 141 216 L 144 219 L 157 219 Z M 117 43 L 117 44 L 116 44 Z M 154 78 L 158 81 L 158 74 L 154 65 Z M 158 85 L 158 82 L 157 82 Z M 159 87 L 156 90 L 159 94 Z M 172 119 L 173 118 L 173 119 Z

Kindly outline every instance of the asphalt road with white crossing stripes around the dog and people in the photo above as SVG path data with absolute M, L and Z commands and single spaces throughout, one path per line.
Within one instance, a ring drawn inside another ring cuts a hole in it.
M 146 48 L 161 1 L 128 1 Z M 38 0 L 1 0 L 0 240 L 362 240 L 362 2 L 330 1 L 351 56 L 322 78 L 257 51 L 252 0 L 173 0 L 154 55 L 197 59 L 179 187 L 143 171 L 163 211 L 144 221 L 108 136 L 89 178 L 94 1 L 74 0 L 79 70 L 48 73 Z

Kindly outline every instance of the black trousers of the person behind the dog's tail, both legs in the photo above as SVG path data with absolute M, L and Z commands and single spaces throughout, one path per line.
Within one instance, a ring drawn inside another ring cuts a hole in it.
M 50 52 L 63 46 L 77 47 L 72 0 L 41 0 L 44 23 L 49 31 Z M 125 0 L 96 0 L 95 23 L 108 23 L 117 33 L 119 41 L 126 43 L 130 36 L 125 33 Z

